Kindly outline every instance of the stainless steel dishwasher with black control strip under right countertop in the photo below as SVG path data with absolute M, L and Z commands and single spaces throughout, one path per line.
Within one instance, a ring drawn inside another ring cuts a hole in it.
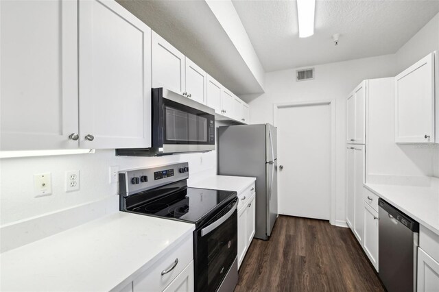
M 416 291 L 419 223 L 378 200 L 378 274 L 389 292 Z

